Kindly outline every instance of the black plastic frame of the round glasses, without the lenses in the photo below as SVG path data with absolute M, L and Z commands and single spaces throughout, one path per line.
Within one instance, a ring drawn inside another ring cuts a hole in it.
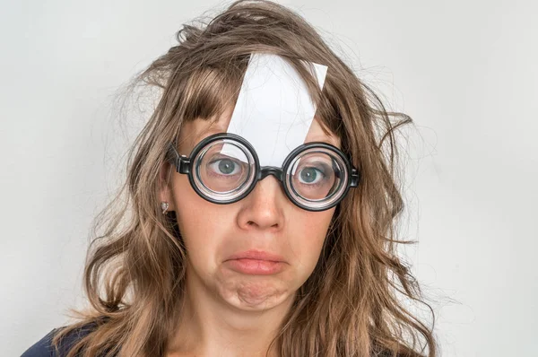
M 252 183 L 250 184 L 250 187 L 248 187 L 247 190 L 243 194 L 241 194 L 240 196 L 237 196 L 237 197 L 229 199 L 229 200 L 224 200 L 224 201 L 215 200 L 215 199 L 213 199 L 211 197 L 205 196 L 202 193 L 202 191 L 200 191 L 200 189 L 196 186 L 194 173 L 193 173 L 193 171 L 194 171 L 194 168 L 193 168 L 194 161 L 193 161 L 193 159 L 198 155 L 198 153 L 201 150 L 204 149 L 204 147 L 207 144 L 211 144 L 211 143 L 213 143 L 215 141 L 218 141 L 218 140 L 221 140 L 221 139 L 230 139 L 230 140 L 237 141 L 240 144 L 245 145 L 245 147 L 247 147 L 247 150 L 252 154 L 252 157 L 254 158 L 255 168 L 256 168 L 255 169 L 256 170 L 255 178 L 253 179 Z M 284 181 L 283 181 L 283 179 L 284 179 L 283 172 L 287 172 L 287 170 L 288 170 L 289 166 L 291 165 L 291 162 L 293 161 L 293 159 L 295 159 L 295 157 L 300 152 L 303 152 L 303 151 L 308 150 L 308 149 L 313 148 L 313 147 L 322 148 L 322 149 L 328 149 L 328 150 L 334 152 L 335 154 L 337 154 L 342 159 L 342 161 L 344 162 L 344 164 L 346 166 L 346 169 L 347 169 L 347 172 L 348 172 L 347 185 L 343 190 L 342 196 L 340 196 L 331 205 L 327 205 L 327 206 L 323 206 L 323 207 L 309 207 L 307 205 L 302 205 L 301 203 L 297 202 L 292 197 L 288 186 L 285 185 Z M 210 136 L 204 138 L 204 140 L 202 140 L 200 143 L 195 145 L 194 149 L 190 153 L 190 156 L 180 155 L 178 153 L 178 150 L 176 149 L 176 143 L 175 142 L 169 144 L 169 152 L 170 152 L 170 156 L 171 156 L 170 163 L 174 165 L 174 167 L 176 168 L 176 171 L 178 173 L 186 174 L 188 176 L 188 180 L 190 182 L 190 185 L 191 185 L 191 187 L 193 187 L 195 192 L 199 196 L 204 198 L 206 201 L 212 202 L 213 204 L 217 204 L 217 205 L 228 205 L 228 204 L 232 204 L 234 202 L 238 202 L 239 200 L 241 200 L 241 199 L 245 198 L 246 196 L 248 196 L 248 194 L 250 194 L 250 192 L 252 192 L 254 187 L 256 187 L 256 184 L 257 184 L 258 181 L 260 181 L 262 179 L 265 179 L 269 175 L 273 175 L 276 179 L 278 179 L 280 181 L 281 186 L 282 186 L 282 188 L 284 190 L 284 193 L 286 194 L 286 196 L 288 196 L 288 198 L 291 200 L 291 202 L 294 205 L 297 205 L 297 206 L 299 206 L 300 208 L 302 208 L 304 210 L 312 211 L 312 212 L 325 211 L 325 210 L 327 210 L 327 209 L 329 209 L 331 207 L 334 207 L 334 205 L 338 205 L 343 200 L 343 198 L 345 196 L 347 196 L 350 188 L 351 187 L 358 187 L 359 182 L 360 182 L 360 172 L 359 172 L 359 170 L 357 170 L 356 168 L 351 166 L 350 159 L 348 159 L 343 154 L 343 152 L 340 151 L 340 149 L 338 149 L 336 146 L 334 146 L 332 144 L 323 143 L 323 142 L 312 142 L 312 143 L 302 144 L 302 145 L 298 146 L 297 148 L 295 148 L 292 152 L 290 152 L 288 154 L 288 156 L 286 157 L 286 159 L 284 160 L 284 162 L 282 164 L 282 168 L 275 167 L 275 166 L 260 166 L 260 161 L 259 161 L 259 159 L 257 157 L 256 150 L 254 150 L 254 147 L 250 143 L 248 143 L 247 139 L 245 139 L 242 136 L 231 134 L 231 133 L 213 134 L 213 135 L 210 135 Z

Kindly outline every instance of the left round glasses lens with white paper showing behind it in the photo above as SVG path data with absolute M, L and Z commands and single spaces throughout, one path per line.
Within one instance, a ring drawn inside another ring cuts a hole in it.
M 247 148 L 230 139 L 207 144 L 195 157 L 195 184 L 213 200 L 228 201 L 254 179 L 255 161 Z

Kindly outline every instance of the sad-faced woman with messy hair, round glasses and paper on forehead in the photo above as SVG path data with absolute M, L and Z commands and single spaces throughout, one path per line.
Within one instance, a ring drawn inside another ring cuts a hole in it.
M 161 99 L 128 199 L 91 245 L 91 308 L 23 356 L 436 355 L 403 306 L 419 289 L 395 255 L 394 131 L 410 119 L 307 22 L 239 1 L 184 26 L 137 80 Z

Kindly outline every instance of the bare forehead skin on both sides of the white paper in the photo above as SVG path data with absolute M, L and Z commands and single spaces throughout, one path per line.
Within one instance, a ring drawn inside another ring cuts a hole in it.
M 179 149 L 185 153 L 192 151 L 196 144 L 205 137 L 217 133 L 226 133 L 230 124 L 233 109 L 226 109 L 219 118 L 214 120 L 200 119 L 183 123 L 179 133 Z M 341 140 L 337 135 L 327 130 L 329 135 L 325 134 L 323 124 L 314 117 L 312 124 L 308 128 L 308 134 L 305 143 L 324 142 L 333 144 L 340 149 Z

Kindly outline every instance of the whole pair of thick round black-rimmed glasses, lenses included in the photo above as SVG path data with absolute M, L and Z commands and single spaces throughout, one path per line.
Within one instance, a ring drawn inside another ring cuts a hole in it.
M 179 155 L 169 145 L 170 161 L 188 175 L 195 192 L 214 204 L 231 204 L 246 197 L 257 181 L 273 175 L 286 196 L 308 211 L 324 211 L 337 205 L 351 187 L 357 187 L 359 171 L 337 147 L 327 143 L 302 144 L 286 157 L 282 168 L 261 166 L 254 147 L 230 133 L 204 138 L 190 154 Z

